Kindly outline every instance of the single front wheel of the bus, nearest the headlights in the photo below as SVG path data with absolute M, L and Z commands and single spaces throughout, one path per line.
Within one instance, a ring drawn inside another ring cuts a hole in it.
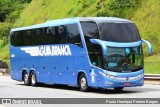
M 85 74 L 81 74 L 79 77 L 79 88 L 82 92 L 88 91 L 88 84 L 87 84 L 87 78 Z

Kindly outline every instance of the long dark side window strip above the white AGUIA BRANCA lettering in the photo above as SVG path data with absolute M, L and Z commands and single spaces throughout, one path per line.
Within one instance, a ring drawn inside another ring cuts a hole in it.
M 16 31 L 11 34 L 11 44 L 13 46 L 35 46 L 67 43 L 82 46 L 77 24 Z

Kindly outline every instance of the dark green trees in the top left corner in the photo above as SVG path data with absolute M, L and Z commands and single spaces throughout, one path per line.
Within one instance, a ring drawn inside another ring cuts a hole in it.
M 8 43 L 10 29 L 31 0 L 0 0 L 0 45 Z

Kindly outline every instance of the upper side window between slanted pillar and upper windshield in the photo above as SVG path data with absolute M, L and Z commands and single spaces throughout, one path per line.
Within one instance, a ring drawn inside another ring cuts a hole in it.
M 94 22 L 81 22 L 83 34 L 85 36 L 86 42 L 89 41 L 89 39 L 99 39 L 99 32 L 97 24 Z

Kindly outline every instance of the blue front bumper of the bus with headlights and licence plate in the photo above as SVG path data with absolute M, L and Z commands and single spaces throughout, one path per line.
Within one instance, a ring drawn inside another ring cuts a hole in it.
M 103 75 L 103 74 L 102 74 Z M 143 86 L 144 84 L 144 74 L 143 71 L 139 71 L 134 76 L 132 74 L 117 76 L 117 77 L 107 77 L 103 75 L 103 79 L 98 82 L 98 87 L 106 88 L 122 88 L 122 87 L 136 87 Z

